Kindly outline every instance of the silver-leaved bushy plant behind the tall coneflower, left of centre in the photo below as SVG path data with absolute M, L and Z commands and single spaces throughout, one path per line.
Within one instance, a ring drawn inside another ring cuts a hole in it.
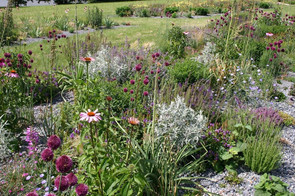
M 95 61 L 89 63 L 88 68 L 89 76 L 92 79 L 100 73 L 100 76 L 104 78 L 116 78 L 119 81 L 124 81 L 129 67 L 127 64 L 120 62 L 119 57 L 111 56 L 108 46 L 102 45 L 101 49 L 93 57 Z

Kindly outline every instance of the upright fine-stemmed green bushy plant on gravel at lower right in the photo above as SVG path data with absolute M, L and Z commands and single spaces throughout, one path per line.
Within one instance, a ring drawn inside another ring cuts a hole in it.
M 278 168 L 282 159 L 282 144 L 279 142 L 281 127 L 259 131 L 246 140 L 247 148 L 243 152 L 245 164 L 257 173 Z

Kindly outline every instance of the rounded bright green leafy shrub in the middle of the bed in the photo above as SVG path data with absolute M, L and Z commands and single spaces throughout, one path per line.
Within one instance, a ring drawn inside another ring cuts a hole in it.
M 184 83 L 186 79 L 189 79 L 189 84 L 199 79 L 207 78 L 210 75 L 207 66 L 192 59 L 177 61 L 173 67 L 169 67 L 168 72 L 176 83 Z

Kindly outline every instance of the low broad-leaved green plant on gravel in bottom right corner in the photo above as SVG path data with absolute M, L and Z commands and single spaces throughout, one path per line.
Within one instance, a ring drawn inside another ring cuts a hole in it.
M 259 183 L 254 186 L 254 196 L 294 196 L 294 193 L 287 191 L 287 187 L 289 184 L 282 182 L 280 178 L 265 173 L 260 177 Z

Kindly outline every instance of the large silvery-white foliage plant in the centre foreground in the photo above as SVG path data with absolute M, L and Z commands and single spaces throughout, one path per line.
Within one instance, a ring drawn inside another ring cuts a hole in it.
M 187 107 L 184 98 L 177 96 L 170 105 L 158 104 L 159 118 L 155 125 L 155 134 L 169 135 L 171 143 L 181 148 L 186 144 L 196 147 L 202 131 L 206 129 L 207 117 L 202 111 L 194 111 Z

